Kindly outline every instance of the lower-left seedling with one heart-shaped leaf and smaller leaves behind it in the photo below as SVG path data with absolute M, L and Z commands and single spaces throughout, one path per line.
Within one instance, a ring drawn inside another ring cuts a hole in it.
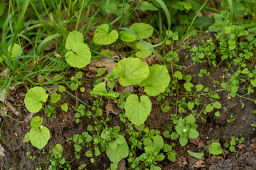
M 41 125 L 42 123 L 43 118 L 35 116 L 30 122 L 31 130 L 26 133 L 23 142 L 30 141 L 34 147 L 43 149 L 50 139 L 50 130 Z

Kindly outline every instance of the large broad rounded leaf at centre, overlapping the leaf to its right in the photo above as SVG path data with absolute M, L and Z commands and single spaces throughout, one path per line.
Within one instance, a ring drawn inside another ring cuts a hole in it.
M 112 72 L 117 73 L 122 86 L 131 86 L 139 84 L 149 76 L 149 67 L 138 58 L 126 58 L 119 61 Z

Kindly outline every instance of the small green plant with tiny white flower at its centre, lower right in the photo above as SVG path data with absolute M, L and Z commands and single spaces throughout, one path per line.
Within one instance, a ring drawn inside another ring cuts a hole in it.
M 171 133 L 171 139 L 176 140 L 179 138 L 181 146 L 188 143 L 188 137 L 194 139 L 199 136 L 196 128 L 196 119 L 193 115 L 187 115 L 185 118 L 179 118 L 177 125 L 175 125 L 176 132 Z

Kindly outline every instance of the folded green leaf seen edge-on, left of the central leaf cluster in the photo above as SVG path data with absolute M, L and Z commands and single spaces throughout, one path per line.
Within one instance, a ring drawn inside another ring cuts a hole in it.
M 91 96 L 105 96 L 107 98 L 118 98 L 119 94 L 115 91 L 107 91 L 106 84 L 104 82 L 97 84 L 92 91 L 90 91 Z

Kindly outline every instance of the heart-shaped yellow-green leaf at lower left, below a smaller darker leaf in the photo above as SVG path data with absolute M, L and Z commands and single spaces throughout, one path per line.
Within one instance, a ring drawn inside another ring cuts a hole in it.
M 38 128 L 31 128 L 29 132 L 29 139 L 34 147 L 43 149 L 50 139 L 50 130 L 44 126 L 41 128 L 41 130 Z

